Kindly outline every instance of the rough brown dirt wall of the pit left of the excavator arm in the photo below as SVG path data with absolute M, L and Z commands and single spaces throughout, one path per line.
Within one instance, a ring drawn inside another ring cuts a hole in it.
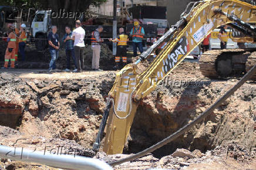
M 19 110 L 21 116 L 18 122 L 8 123 L 28 136 L 66 138 L 87 148 L 92 145 L 113 73 L 63 81 L 14 79 L 11 73 L 0 76 L 0 108 Z

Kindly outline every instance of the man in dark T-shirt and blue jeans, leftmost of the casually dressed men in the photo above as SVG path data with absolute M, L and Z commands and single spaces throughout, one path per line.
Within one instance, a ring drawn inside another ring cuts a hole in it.
M 59 57 L 59 35 L 56 32 L 57 26 L 53 25 L 52 32 L 49 32 L 48 35 L 50 56 L 52 57 L 49 64 L 49 72 L 56 69 L 56 60 Z

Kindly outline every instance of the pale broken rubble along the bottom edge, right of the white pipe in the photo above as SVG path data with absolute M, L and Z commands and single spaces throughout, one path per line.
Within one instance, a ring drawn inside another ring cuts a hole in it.
M 239 156 L 238 156 L 239 155 Z M 117 154 L 106 155 L 99 152 L 94 158 L 102 159 L 106 162 L 117 161 L 129 155 Z M 114 166 L 115 169 L 194 169 L 194 168 L 221 168 L 221 169 L 239 169 L 252 168 L 256 165 L 256 148 L 242 147 L 235 142 L 227 145 L 218 146 L 213 150 L 202 153 L 199 150 L 193 152 L 187 149 L 176 149 L 171 155 L 166 157 L 155 158 L 152 154 L 148 154 L 142 158 L 133 161 L 124 162 L 121 165 Z M 239 162 L 239 164 L 233 164 Z M 248 165 L 248 163 L 252 163 Z M 227 165 L 228 164 L 228 165 Z

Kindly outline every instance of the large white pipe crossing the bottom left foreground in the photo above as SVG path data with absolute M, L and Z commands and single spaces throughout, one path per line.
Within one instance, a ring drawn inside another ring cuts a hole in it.
M 62 169 L 112 169 L 106 162 L 98 159 L 80 157 L 77 155 L 53 155 L 49 152 L 11 148 L 4 145 L 0 145 L 0 158 L 23 162 L 36 162 Z

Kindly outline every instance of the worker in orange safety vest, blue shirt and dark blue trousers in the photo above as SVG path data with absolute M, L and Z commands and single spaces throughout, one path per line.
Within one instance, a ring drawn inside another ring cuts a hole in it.
M 130 31 L 130 36 L 132 36 L 133 41 L 133 56 L 137 56 L 137 47 L 139 47 L 140 53 L 143 52 L 142 39 L 145 35 L 144 28 L 139 25 L 139 22 L 134 22 L 134 27 Z

